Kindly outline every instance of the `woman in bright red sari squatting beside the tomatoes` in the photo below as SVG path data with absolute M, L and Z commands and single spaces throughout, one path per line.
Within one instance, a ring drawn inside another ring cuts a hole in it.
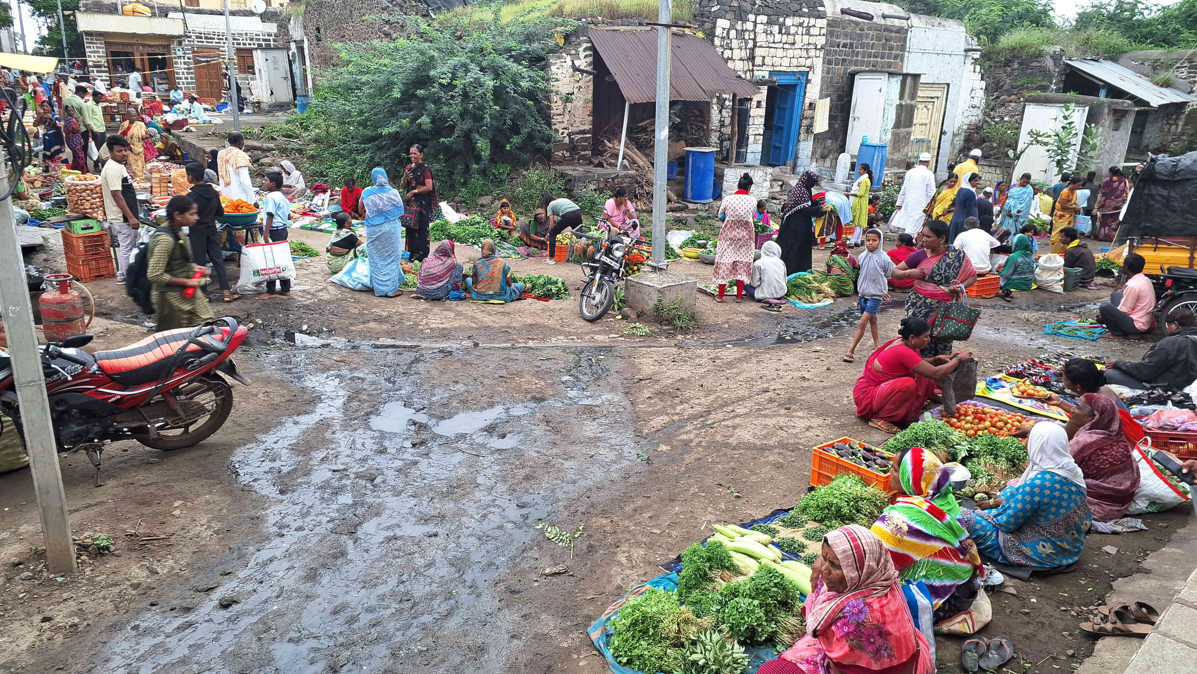
M 856 415 L 868 419 L 874 429 L 887 433 L 899 431 L 918 418 L 937 388 L 938 379 L 972 359 L 964 351 L 952 356 L 923 358 L 919 351 L 931 340 L 931 326 L 917 316 L 901 320 L 898 336 L 881 345 L 864 363 L 856 379 L 852 400 Z

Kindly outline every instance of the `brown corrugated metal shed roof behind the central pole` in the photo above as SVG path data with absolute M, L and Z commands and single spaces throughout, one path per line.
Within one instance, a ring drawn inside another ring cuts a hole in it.
M 657 99 L 656 29 L 591 29 L 590 41 L 631 103 Z M 721 93 L 752 98 L 760 90 L 728 67 L 723 56 L 697 35 L 674 31 L 669 61 L 670 101 L 710 101 Z

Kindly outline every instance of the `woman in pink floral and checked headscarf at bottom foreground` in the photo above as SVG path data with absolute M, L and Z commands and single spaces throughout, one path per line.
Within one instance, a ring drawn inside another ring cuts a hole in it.
M 910 615 L 889 551 L 873 532 L 828 532 L 812 567 L 807 636 L 760 674 L 930 674 L 931 646 Z

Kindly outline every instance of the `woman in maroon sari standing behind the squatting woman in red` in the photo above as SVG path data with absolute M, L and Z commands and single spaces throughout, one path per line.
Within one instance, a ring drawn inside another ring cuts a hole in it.
M 915 279 L 906 296 L 906 315 L 930 322 L 944 302 L 964 296 L 977 283 L 977 272 L 964 250 L 948 245 L 948 225 L 931 220 L 923 225 L 923 248 L 911 253 L 894 268 L 893 278 Z M 923 358 L 952 353 L 950 341 L 930 341 L 923 347 Z

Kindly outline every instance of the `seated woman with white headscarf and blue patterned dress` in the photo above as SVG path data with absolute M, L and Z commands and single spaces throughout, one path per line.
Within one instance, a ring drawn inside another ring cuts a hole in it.
M 961 510 L 960 523 L 982 554 L 1002 564 L 1068 566 L 1081 557 L 1093 524 L 1084 475 L 1069 453 L 1068 433 L 1051 421 L 1031 429 L 1027 454 L 1017 484 L 978 503 L 978 510 Z

